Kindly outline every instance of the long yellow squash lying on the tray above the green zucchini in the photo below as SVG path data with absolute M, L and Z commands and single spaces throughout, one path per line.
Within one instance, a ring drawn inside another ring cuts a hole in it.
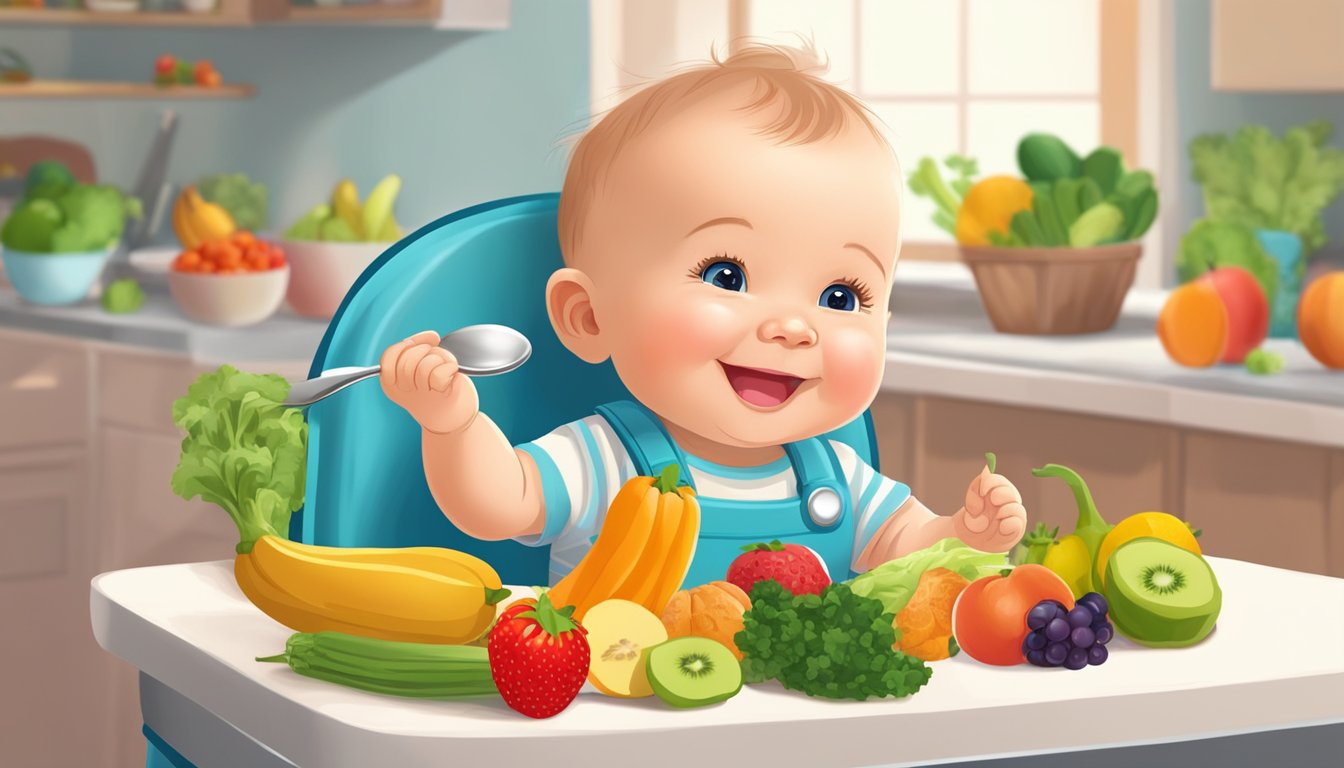
M 300 632 L 469 643 L 508 596 L 484 561 L 441 547 L 312 546 L 263 535 L 234 560 L 243 594 Z

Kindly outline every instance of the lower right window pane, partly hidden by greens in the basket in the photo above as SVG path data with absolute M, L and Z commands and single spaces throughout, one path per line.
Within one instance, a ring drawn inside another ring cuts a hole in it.
M 970 101 L 966 153 L 980 172 L 1020 175 L 1017 143 L 1027 133 L 1054 133 L 1079 156 L 1101 144 L 1101 114 L 1094 101 Z

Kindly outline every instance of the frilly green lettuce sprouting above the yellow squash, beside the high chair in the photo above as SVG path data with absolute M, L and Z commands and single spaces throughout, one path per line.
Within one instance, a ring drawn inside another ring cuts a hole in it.
M 234 519 L 239 553 L 266 534 L 289 537 L 289 516 L 304 503 L 308 422 L 280 405 L 289 382 L 220 366 L 203 374 L 172 404 L 185 430 L 172 490 L 200 496 Z

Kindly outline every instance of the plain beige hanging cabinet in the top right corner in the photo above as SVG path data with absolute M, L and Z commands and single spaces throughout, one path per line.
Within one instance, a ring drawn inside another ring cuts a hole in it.
M 1214 90 L 1344 90 L 1344 3 L 1212 3 Z

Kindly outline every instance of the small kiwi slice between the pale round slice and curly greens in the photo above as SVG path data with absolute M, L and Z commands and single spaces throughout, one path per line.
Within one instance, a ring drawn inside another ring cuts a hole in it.
M 708 638 L 677 638 L 649 648 L 649 685 L 672 706 L 730 699 L 742 690 L 742 667 L 732 651 Z

